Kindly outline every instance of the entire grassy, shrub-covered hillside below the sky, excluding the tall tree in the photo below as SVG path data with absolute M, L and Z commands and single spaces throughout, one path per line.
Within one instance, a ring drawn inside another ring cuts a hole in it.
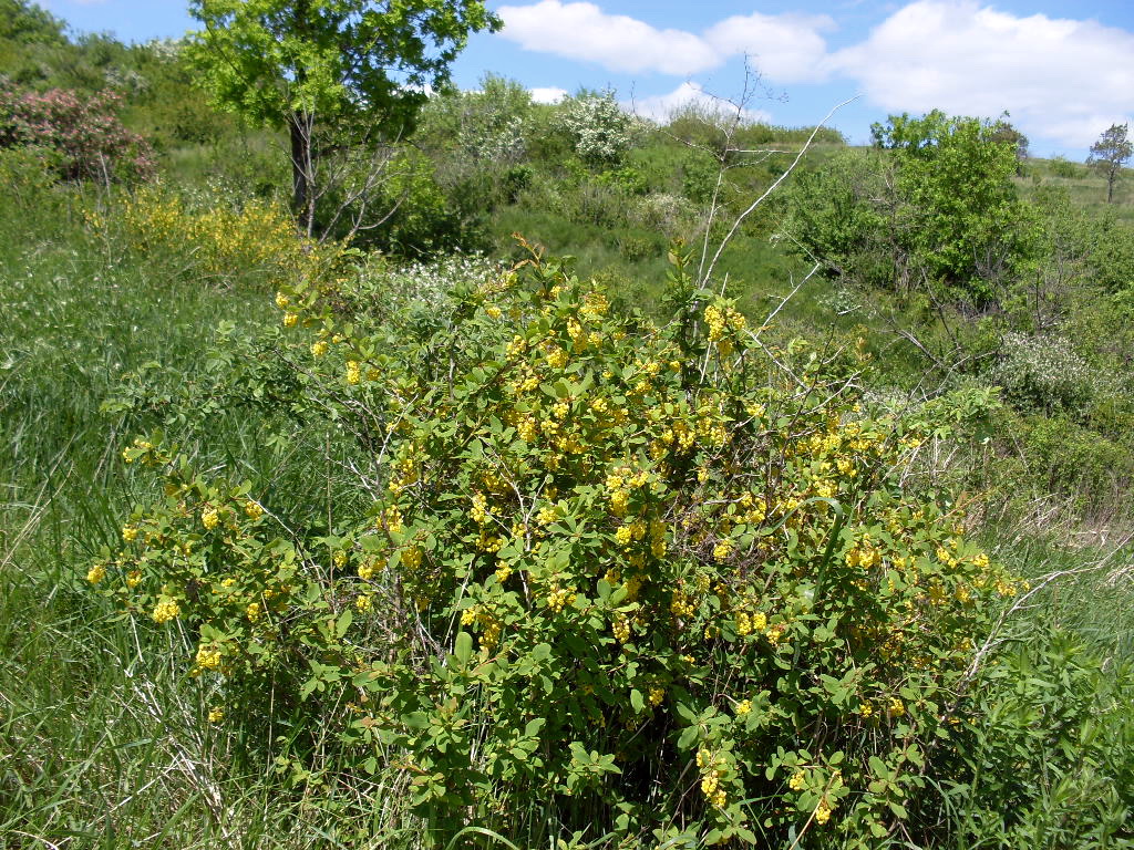
M 1120 162 L 0 12 L 5 847 L 1134 845 Z

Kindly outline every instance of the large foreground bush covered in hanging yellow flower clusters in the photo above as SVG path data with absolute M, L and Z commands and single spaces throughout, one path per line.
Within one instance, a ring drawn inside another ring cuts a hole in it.
M 931 409 L 872 410 L 671 262 L 665 324 L 534 253 L 425 313 L 362 278 L 280 291 L 288 403 L 355 435 L 361 498 L 304 529 L 138 439 L 164 495 L 88 579 L 188 630 L 230 707 L 308 706 L 432 843 L 925 832 L 1018 583 L 900 485 Z

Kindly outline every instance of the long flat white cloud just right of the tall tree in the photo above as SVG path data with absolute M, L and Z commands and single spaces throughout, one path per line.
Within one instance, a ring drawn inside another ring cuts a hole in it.
M 616 71 L 695 74 L 723 57 L 703 39 L 682 29 L 657 29 L 626 15 L 607 15 L 594 3 L 540 0 L 501 6 L 501 36 L 526 50 L 583 59 Z

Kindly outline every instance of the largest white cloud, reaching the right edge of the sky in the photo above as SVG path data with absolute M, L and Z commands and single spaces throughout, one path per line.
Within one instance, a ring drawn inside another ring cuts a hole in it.
M 974 0 L 917 0 L 826 67 L 888 110 L 1008 110 L 1025 133 L 1080 148 L 1134 113 L 1134 34 Z

